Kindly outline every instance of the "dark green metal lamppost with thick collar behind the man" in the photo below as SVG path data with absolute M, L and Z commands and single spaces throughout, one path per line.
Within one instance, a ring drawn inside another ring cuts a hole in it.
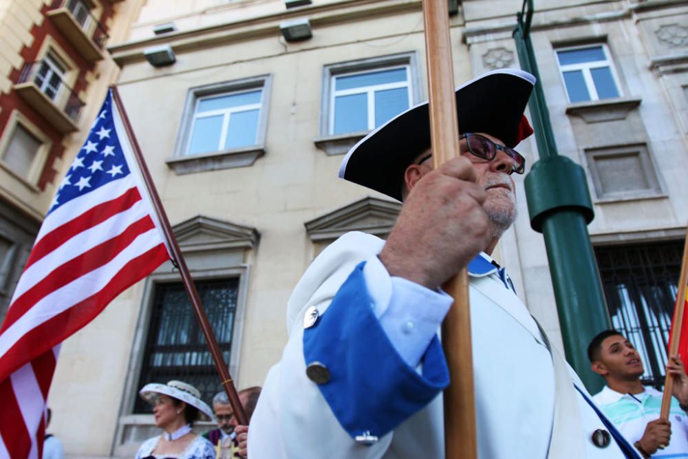
M 585 351 L 611 322 L 588 235 L 594 218 L 590 191 L 583 168 L 557 153 L 530 41 L 533 0 L 524 0 L 517 19 L 513 36 L 521 67 L 537 78 L 529 104 L 540 159 L 526 176 L 530 226 L 545 239 L 566 359 L 588 390 L 596 392 L 602 381 L 590 370 Z

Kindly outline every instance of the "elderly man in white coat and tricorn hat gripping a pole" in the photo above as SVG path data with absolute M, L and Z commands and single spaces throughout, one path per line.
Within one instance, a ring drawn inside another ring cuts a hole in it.
M 387 242 L 344 235 L 288 302 L 289 341 L 248 435 L 251 459 L 444 458 L 440 289 L 467 267 L 479 456 L 639 458 L 550 348 L 490 257 L 516 215 L 515 147 L 535 78 L 489 72 L 456 90 L 462 156 L 431 167 L 427 103 L 352 148 L 339 175 L 403 201 Z

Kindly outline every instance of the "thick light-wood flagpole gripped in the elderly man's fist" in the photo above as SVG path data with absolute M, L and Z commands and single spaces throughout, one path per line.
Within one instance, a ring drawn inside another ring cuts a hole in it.
M 460 155 L 447 0 L 423 0 L 423 17 L 431 145 L 433 165 L 437 169 L 440 164 Z M 442 348 L 451 378 L 449 387 L 444 390 L 444 456 L 447 459 L 475 459 L 475 392 L 466 269 L 447 282 L 444 290 L 454 298 L 442 323 Z

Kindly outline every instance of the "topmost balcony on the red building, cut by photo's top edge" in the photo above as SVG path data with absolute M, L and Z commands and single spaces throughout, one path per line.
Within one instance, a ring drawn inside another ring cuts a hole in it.
M 47 15 L 88 61 L 103 58 L 107 29 L 85 0 L 54 0 Z

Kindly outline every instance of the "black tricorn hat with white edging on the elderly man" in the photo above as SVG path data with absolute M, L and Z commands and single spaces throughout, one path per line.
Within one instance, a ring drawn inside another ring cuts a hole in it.
M 517 69 L 487 72 L 456 88 L 460 133 L 483 132 L 515 147 L 533 134 L 524 110 L 535 76 Z M 411 107 L 361 139 L 339 167 L 339 177 L 401 200 L 403 175 L 430 147 L 427 101 Z

